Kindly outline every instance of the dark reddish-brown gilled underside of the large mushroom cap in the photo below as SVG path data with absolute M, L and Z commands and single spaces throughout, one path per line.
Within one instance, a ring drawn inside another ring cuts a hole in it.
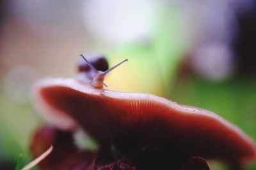
M 194 156 L 220 159 L 237 167 L 255 159 L 250 138 L 208 111 L 148 94 L 125 96 L 66 85 L 47 85 L 39 93 L 45 103 L 72 118 L 111 157 L 126 157 L 141 167 L 166 167 L 170 162 L 180 167 Z

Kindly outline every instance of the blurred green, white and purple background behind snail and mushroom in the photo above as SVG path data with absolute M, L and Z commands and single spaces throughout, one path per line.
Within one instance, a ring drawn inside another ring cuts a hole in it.
M 109 89 L 214 111 L 256 139 L 253 0 L 1 0 L 0 14 L 0 169 L 14 169 L 20 153 L 31 160 L 43 123 L 33 82 L 75 76 L 79 54 L 94 50 L 111 66 L 129 59 L 106 78 Z

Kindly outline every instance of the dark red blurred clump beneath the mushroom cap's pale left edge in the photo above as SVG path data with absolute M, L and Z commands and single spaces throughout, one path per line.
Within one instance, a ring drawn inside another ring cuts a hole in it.
M 38 129 L 31 140 L 32 156 L 38 157 L 49 146 L 54 145 L 52 152 L 39 162 L 40 169 L 65 170 L 89 169 L 93 166 L 96 152 L 81 150 L 75 145 L 72 132 L 61 131 L 54 127 L 43 126 Z

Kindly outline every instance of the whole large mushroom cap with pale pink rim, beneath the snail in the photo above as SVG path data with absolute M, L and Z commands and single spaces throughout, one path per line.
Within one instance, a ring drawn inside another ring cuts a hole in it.
M 176 155 L 237 166 L 256 159 L 252 139 L 235 125 L 211 111 L 152 94 L 94 89 L 75 78 L 48 78 L 36 83 L 33 98 L 47 122 L 68 131 L 80 126 L 100 145 L 132 148 L 147 143 Z

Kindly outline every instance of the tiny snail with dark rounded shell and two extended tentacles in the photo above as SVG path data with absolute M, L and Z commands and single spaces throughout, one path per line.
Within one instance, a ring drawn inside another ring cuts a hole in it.
M 84 59 L 85 63 L 79 62 L 79 72 L 86 73 L 87 78 L 90 80 L 89 83 L 91 83 L 93 87 L 97 89 L 102 89 L 103 85 L 105 87 L 108 87 L 108 85 L 104 83 L 104 78 L 106 74 L 108 74 L 110 71 L 120 66 L 124 62 L 128 61 L 128 59 L 125 59 L 122 62 L 108 69 L 108 61 L 106 60 L 104 55 L 97 52 L 91 52 L 87 55 L 88 57 L 90 57 L 90 59 L 92 59 L 92 62 L 86 59 L 83 54 L 81 54 L 81 57 Z

